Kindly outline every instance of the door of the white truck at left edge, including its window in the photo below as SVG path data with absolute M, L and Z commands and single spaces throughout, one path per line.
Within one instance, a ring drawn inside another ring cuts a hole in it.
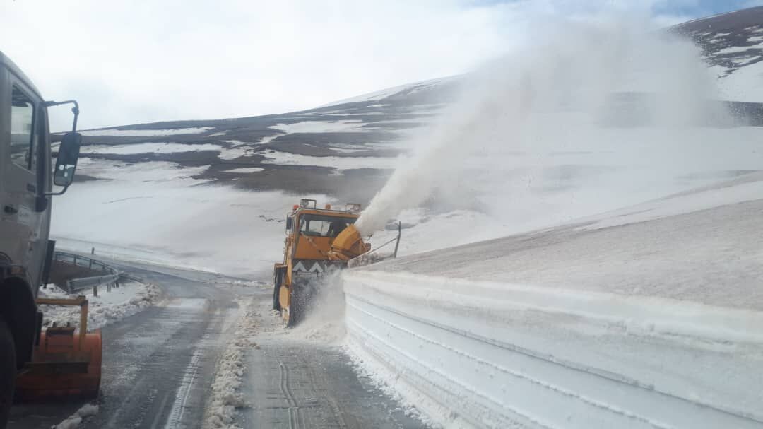
M 7 72 L 6 72 L 7 73 Z M 39 130 L 35 122 L 40 116 L 40 100 L 12 73 L 7 73 L 8 85 L 2 94 L 2 201 L 0 201 L 0 242 L 2 252 L 8 252 L 12 263 L 37 271 L 34 259 L 40 234 L 41 217 L 35 211 L 37 196 L 37 167 Z M 44 192 L 44 189 L 40 191 Z M 37 279 L 27 278 L 32 282 Z

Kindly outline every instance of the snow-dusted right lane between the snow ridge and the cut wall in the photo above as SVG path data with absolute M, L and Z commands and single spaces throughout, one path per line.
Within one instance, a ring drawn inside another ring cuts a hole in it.
M 336 345 L 343 334 L 341 321 L 316 320 L 307 314 L 305 326 L 286 330 L 266 298 L 257 298 L 261 315 L 253 338 L 257 347 L 246 352 L 249 370 L 243 392 L 250 407 L 241 410 L 236 422 L 240 427 L 424 427 L 356 374 Z

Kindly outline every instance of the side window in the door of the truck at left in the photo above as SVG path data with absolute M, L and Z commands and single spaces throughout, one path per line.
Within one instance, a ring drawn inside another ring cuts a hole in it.
M 32 169 L 34 102 L 14 85 L 11 93 L 11 160 Z

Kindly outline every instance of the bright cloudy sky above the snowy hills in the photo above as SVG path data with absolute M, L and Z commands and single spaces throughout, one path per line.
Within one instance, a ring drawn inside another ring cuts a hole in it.
M 464 73 L 523 43 L 530 15 L 613 3 L 672 24 L 759 2 L 5 1 L 0 50 L 46 98 L 77 98 L 82 128 L 232 118 Z

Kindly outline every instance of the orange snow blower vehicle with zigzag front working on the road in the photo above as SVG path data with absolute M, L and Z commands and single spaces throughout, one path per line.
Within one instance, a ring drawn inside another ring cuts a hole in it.
M 273 308 L 288 325 L 304 315 L 321 280 L 371 249 L 354 226 L 360 211 L 354 203 L 317 208 L 315 200 L 303 198 L 286 216 L 284 260 L 273 270 Z

